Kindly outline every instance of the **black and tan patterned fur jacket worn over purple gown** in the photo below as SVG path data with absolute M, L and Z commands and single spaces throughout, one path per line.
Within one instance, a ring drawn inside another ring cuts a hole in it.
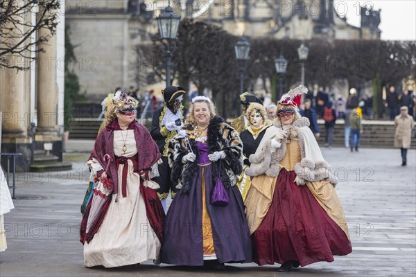
M 187 129 L 193 129 L 193 127 L 187 126 Z M 225 187 L 235 186 L 238 181 L 237 176 L 243 171 L 243 143 L 239 134 L 225 123 L 223 118 L 215 116 L 208 125 L 207 143 L 210 154 L 221 150 L 226 154 L 221 163 L 220 173 L 218 173 L 218 161 L 213 163 L 211 167 L 213 176 L 220 175 Z M 182 163 L 184 155 L 190 152 L 189 147 L 196 154 L 196 160 L 193 163 Z M 187 139 L 177 135 L 169 143 L 168 162 L 172 168 L 171 179 L 176 188 L 181 189 L 184 193 L 189 192 L 193 179 L 196 177 L 199 156 L 195 139 L 189 139 L 188 144 Z

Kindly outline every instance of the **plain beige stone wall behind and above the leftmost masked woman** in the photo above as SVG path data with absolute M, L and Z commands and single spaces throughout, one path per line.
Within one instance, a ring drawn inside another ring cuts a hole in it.
M 81 93 L 101 99 L 116 87 L 137 87 L 135 46 L 157 33 L 153 11 L 141 1 L 67 0 L 66 21 L 77 62 Z

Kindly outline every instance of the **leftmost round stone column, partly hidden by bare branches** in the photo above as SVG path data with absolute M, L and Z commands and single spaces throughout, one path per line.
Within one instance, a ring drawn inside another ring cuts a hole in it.
M 15 6 L 23 6 L 24 1 L 15 1 Z M 24 21 L 26 18 L 17 17 L 19 21 Z M 7 42 L 16 45 L 21 40 L 20 33 L 25 32 L 22 24 L 6 23 L 2 27 L 4 30 L 10 30 L 10 35 L 15 37 L 3 37 L 2 42 Z M 19 55 L 6 54 L 6 60 L 10 66 L 22 65 L 23 57 Z M 16 69 L 1 68 L 1 111 L 2 111 L 2 139 L 1 152 L 20 152 L 23 154 L 22 158 L 17 159 L 17 170 L 27 170 L 33 159 L 32 139 L 27 136 L 27 129 L 29 123 L 29 114 L 25 111 L 25 71 L 17 71 Z

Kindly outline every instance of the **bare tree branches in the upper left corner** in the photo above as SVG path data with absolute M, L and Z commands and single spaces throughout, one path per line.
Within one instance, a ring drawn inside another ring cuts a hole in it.
M 43 52 L 42 44 L 55 35 L 59 8 L 60 0 L 0 1 L 0 68 L 17 71 L 30 68 L 30 62 L 35 60 L 32 53 Z M 34 21 L 33 12 L 36 12 Z M 39 35 L 37 30 L 41 29 L 47 31 Z M 33 34 L 37 34 L 35 39 Z

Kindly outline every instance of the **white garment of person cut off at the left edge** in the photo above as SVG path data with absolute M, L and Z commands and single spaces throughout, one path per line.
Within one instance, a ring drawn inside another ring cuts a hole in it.
M 4 229 L 4 214 L 10 212 L 13 206 L 12 196 L 6 182 L 6 177 L 3 173 L 3 168 L 0 168 L 0 252 L 6 251 L 6 230 Z

